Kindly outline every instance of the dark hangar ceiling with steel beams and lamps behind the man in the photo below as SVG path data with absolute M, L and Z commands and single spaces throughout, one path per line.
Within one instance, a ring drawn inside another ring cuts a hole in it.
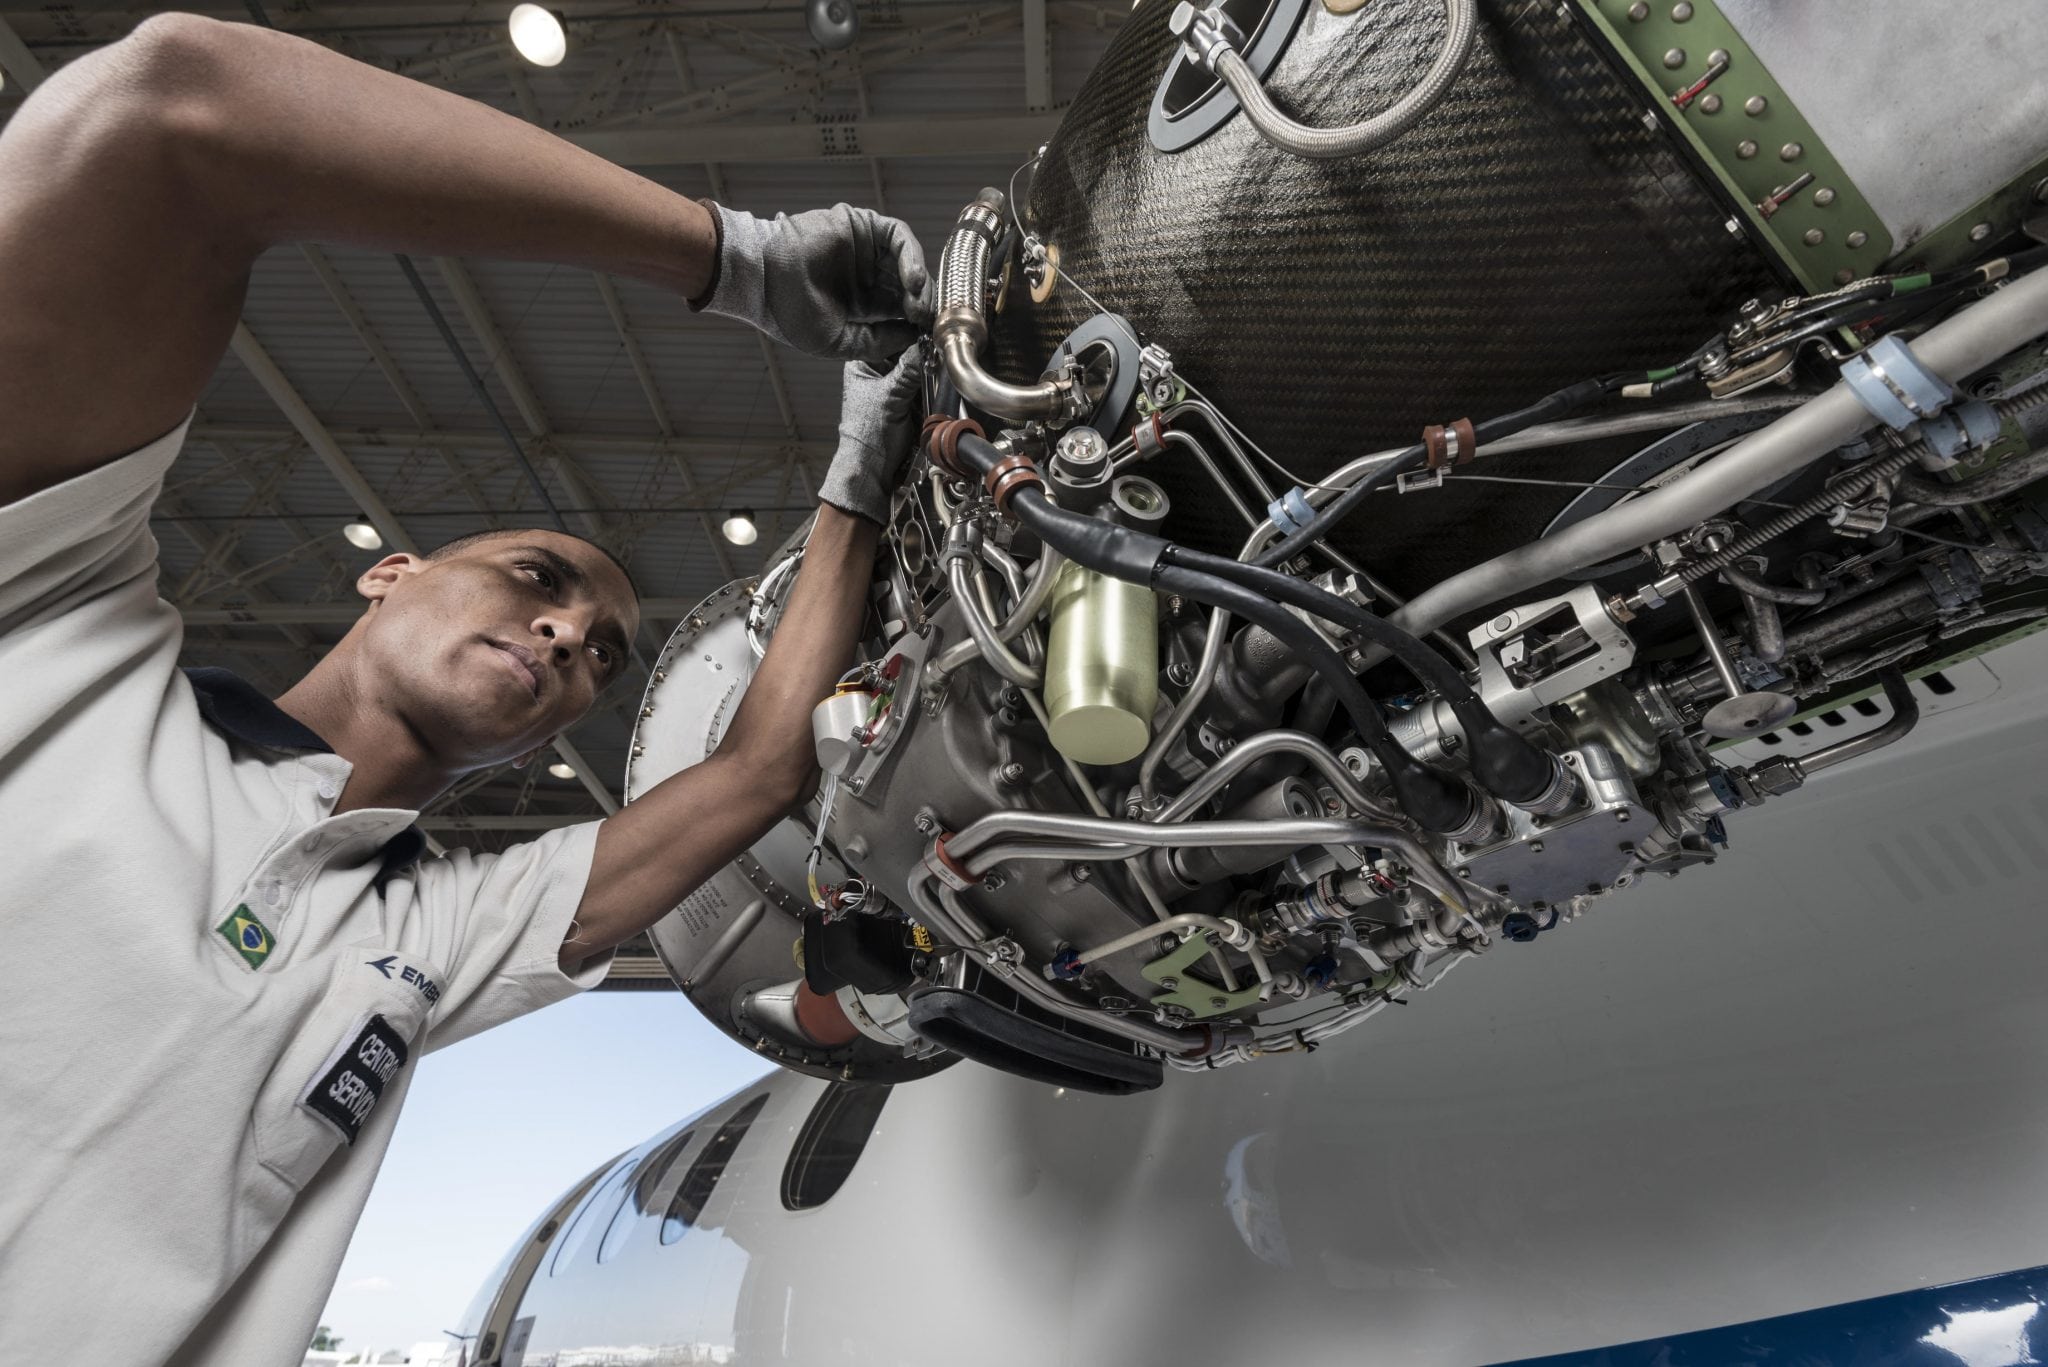
M 936 264 L 983 184 L 1047 139 L 1126 6 L 1110 0 L 858 0 L 860 37 L 821 51 L 801 0 L 575 2 L 557 68 L 514 55 L 510 0 L 246 6 L 0 0 L 0 121 L 27 57 L 53 72 L 164 8 L 260 18 L 373 66 L 528 119 L 678 193 L 754 213 L 834 201 L 893 213 Z M 690 316 L 637 281 L 571 266 L 420 260 L 510 439 L 573 531 L 621 555 L 645 594 L 639 656 L 692 603 L 760 570 L 813 504 L 838 426 L 838 367 Z M 354 578 L 387 551 L 342 529 L 369 512 L 393 545 L 549 525 L 489 408 L 387 252 L 264 256 L 236 350 L 199 402 L 152 514 L 184 664 L 276 695 L 356 617 Z M 752 508 L 760 541 L 719 537 Z M 578 726 L 563 756 L 457 785 L 424 816 L 442 844 L 502 848 L 616 801 L 645 674 Z M 614 978 L 659 969 L 645 951 Z M 666 980 L 664 980 L 666 982 Z

